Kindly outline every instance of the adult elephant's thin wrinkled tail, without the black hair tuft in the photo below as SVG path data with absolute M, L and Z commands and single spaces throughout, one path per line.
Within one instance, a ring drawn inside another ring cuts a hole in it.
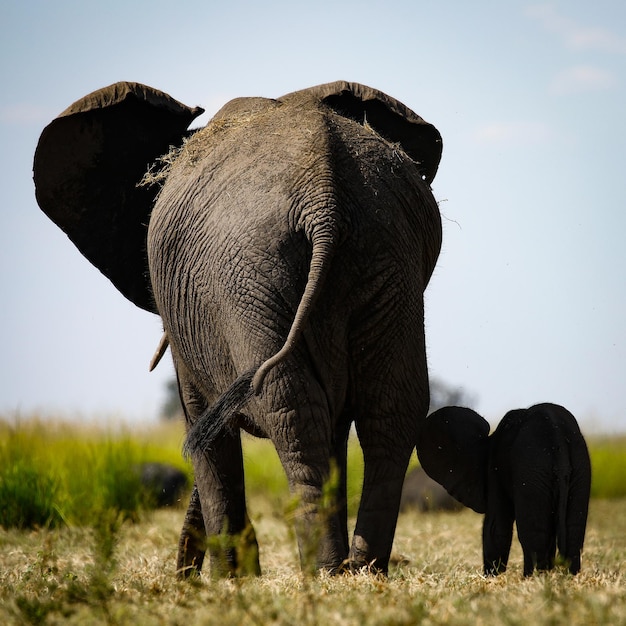
M 336 246 L 336 240 L 337 228 L 332 220 L 324 226 L 318 225 L 314 228 L 311 236 L 311 265 L 309 267 L 309 275 L 302 298 L 300 299 L 300 304 L 296 310 L 296 315 L 293 323 L 291 324 L 289 334 L 287 335 L 287 339 L 283 347 L 276 354 L 262 363 L 256 371 L 256 374 L 252 379 L 254 395 L 259 395 L 259 393 L 261 393 L 263 381 L 269 371 L 289 356 L 289 354 L 293 351 L 298 338 L 302 334 L 302 329 L 304 328 L 306 320 L 311 313 L 311 309 L 324 287 L 324 279 L 330 269 L 330 261 Z

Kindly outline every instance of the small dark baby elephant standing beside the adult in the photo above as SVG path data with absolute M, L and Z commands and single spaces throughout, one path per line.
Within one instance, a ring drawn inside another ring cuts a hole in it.
M 509 411 L 489 436 L 475 411 L 444 407 L 426 418 L 417 446 L 429 476 L 457 500 L 485 513 L 486 575 L 506 570 L 513 522 L 524 576 L 554 567 L 556 548 L 580 570 L 591 463 L 574 416 L 556 404 Z

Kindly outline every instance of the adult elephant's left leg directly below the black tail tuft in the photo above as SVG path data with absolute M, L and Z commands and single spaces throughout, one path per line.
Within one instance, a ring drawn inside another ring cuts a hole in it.
M 258 575 L 259 548 L 246 510 L 239 432 L 192 457 L 214 577 Z

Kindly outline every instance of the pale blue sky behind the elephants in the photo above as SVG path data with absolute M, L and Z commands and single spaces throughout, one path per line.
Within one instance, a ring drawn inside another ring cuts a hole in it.
M 239 96 L 334 80 L 443 137 L 430 375 L 509 409 L 563 404 L 626 432 L 626 3 L 620 0 L 9 0 L 0 8 L 0 416 L 156 420 L 174 373 L 157 316 L 39 210 L 43 128 L 137 81 L 205 124 Z

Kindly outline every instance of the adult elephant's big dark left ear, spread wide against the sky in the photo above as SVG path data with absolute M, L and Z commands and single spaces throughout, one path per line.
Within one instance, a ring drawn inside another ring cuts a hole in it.
M 139 83 L 81 98 L 41 133 L 37 202 L 76 247 L 137 306 L 155 311 L 146 233 L 156 187 L 138 187 L 149 165 L 180 145 L 203 112 Z

